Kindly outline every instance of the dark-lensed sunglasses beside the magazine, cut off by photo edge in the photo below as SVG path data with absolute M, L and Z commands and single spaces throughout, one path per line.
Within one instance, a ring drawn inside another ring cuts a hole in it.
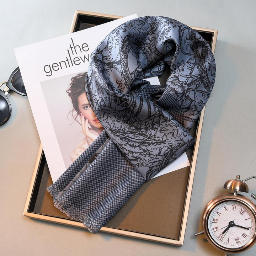
M 2 85 L 5 85 L 6 87 L 4 90 L 0 89 L 0 126 L 5 124 L 11 116 L 11 104 L 6 97 L 9 91 L 14 91 L 17 94 L 27 96 L 19 67 L 11 73 L 8 81 L 3 82 L 0 87 Z

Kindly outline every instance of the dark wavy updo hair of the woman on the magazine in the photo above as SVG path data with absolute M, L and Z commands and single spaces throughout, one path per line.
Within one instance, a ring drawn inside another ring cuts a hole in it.
M 73 104 L 73 110 L 71 110 L 69 113 L 74 118 L 74 121 L 76 118 L 80 115 L 79 107 L 78 107 L 78 97 L 85 92 L 85 77 L 87 75 L 87 72 L 85 73 L 79 73 L 78 75 L 71 78 L 70 87 L 66 92 L 68 93 L 68 96 L 70 97 L 70 102 Z M 74 113 L 74 111 L 76 113 Z

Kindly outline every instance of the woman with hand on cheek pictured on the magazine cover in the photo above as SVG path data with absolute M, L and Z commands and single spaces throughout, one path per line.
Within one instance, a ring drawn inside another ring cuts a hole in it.
M 80 73 L 71 78 L 70 87 L 66 90 L 73 104 L 73 110 L 71 110 L 70 113 L 77 122 L 77 119 L 80 117 L 82 133 L 85 135 L 84 139 L 82 139 L 70 155 L 72 162 L 88 148 L 103 130 L 101 123 L 98 121 L 89 105 L 84 90 L 86 74 L 87 72 Z

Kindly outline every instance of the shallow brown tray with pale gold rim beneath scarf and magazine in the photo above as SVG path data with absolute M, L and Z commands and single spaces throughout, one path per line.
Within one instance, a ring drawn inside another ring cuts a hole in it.
M 75 11 L 70 33 L 116 20 L 121 16 Z M 217 30 L 192 27 L 206 39 L 214 53 Z M 159 77 L 165 81 L 165 74 Z M 196 143 L 186 151 L 190 166 L 153 178 L 140 187 L 100 231 L 133 238 L 183 245 L 196 169 L 204 108 L 197 126 L 191 130 Z M 46 188 L 52 184 L 42 146 L 29 188 L 24 215 L 30 218 L 84 228 L 54 207 Z

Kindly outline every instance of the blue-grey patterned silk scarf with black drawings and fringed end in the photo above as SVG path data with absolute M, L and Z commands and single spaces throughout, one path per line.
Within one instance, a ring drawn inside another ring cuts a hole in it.
M 144 80 L 169 69 L 164 86 Z M 48 188 L 54 204 L 96 233 L 150 177 L 193 143 L 215 80 L 196 31 L 146 16 L 113 30 L 91 56 L 85 91 L 104 130 Z

